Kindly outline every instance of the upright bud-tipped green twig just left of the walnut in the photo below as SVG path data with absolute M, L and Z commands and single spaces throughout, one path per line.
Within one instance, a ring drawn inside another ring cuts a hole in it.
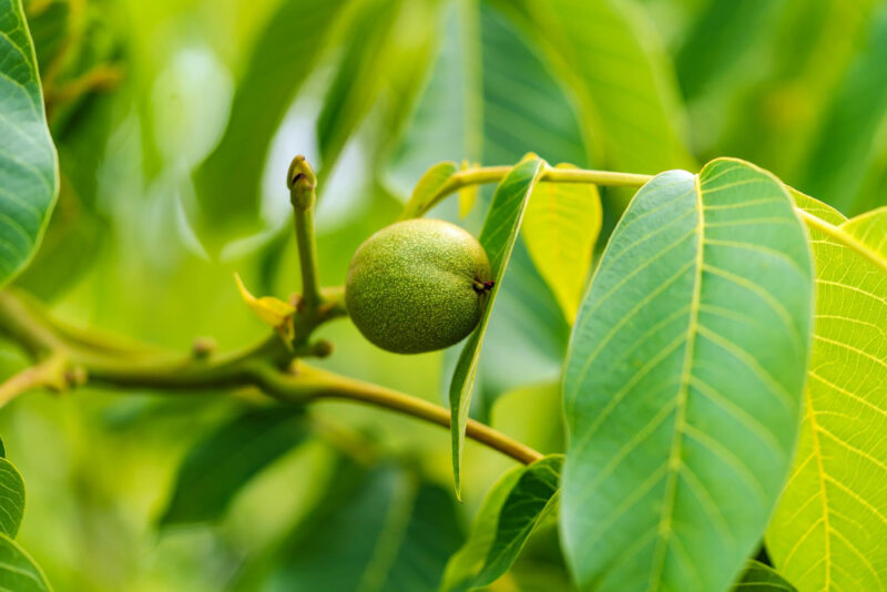
M 298 155 L 293 159 L 286 176 L 286 185 L 289 187 L 289 201 L 295 214 L 296 243 L 302 273 L 302 304 L 308 310 L 316 310 L 323 303 L 320 282 L 317 276 L 317 244 L 314 236 L 317 177 L 305 156 Z

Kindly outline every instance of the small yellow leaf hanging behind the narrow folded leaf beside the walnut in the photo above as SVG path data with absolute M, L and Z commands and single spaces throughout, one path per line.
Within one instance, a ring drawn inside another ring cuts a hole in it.
M 559 164 L 558 169 L 574 166 Z M 579 183 L 540 183 L 527 206 L 523 241 L 570 324 L 591 268 L 601 215 L 598 187 Z

